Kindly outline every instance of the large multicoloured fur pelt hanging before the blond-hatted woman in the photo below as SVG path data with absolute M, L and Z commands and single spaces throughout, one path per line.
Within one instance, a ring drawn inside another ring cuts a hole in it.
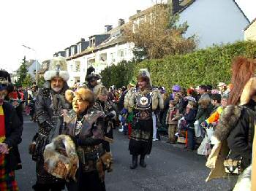
M 44 151 L 45 170 L 60 179 L 73 179 L 78 170 L 79 160 L 75 144 L 69 136 L 60 135 L 46 145 Z

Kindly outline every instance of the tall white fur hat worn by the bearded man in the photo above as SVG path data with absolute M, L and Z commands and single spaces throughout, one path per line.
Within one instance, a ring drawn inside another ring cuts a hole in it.
M 53 77 L 61 77 L 65 82 L 69 79 L 69 72 L 67 71 L 66 59 L 62 56 L 55 57 L 50 61 L 49 70 L 45 71 L 45 81 L 50 81 Z

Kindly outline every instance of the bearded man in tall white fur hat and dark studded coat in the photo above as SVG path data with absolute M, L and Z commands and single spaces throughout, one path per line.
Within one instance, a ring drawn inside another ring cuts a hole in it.
M 39 125 L 36 149 L 31 151 L 33 160 L 37 162 L 37 182 L 33 186 L 34 190 L 63 190 L 64 181 L 48 174 L 44 169 L 44 159 L 42 153 L 45 145 L 54 137 L 61 134 L 61 109 L 69 109 L 70 105 L 64 98 L 64 93 L 68 89 L 67 62 L 63 57 L 56 57 L 50 61 L 49 70 L 44 74 L 44 88 L 39 90 L 35 102 L 36 119 Z

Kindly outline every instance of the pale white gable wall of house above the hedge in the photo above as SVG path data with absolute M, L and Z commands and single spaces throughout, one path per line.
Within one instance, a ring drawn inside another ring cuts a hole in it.
M 197 0 L 180 14 L 180 23 L 187 21 L 185 36 L 196 34 L 198 48 L 243 40 L 248 20 L 233 0 Z

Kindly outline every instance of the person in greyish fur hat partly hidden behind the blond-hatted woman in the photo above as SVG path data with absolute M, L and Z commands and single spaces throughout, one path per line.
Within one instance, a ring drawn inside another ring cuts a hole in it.
M 106 152 L 110 152 L 110 143 L 113 143 L 113 122 L 116 112 L 108 101 L 108 89 L 103 85 L 94 87 L 94 96 L 96 98 L 93 108 L 105 113 L 105 141 L 103 146 Z

